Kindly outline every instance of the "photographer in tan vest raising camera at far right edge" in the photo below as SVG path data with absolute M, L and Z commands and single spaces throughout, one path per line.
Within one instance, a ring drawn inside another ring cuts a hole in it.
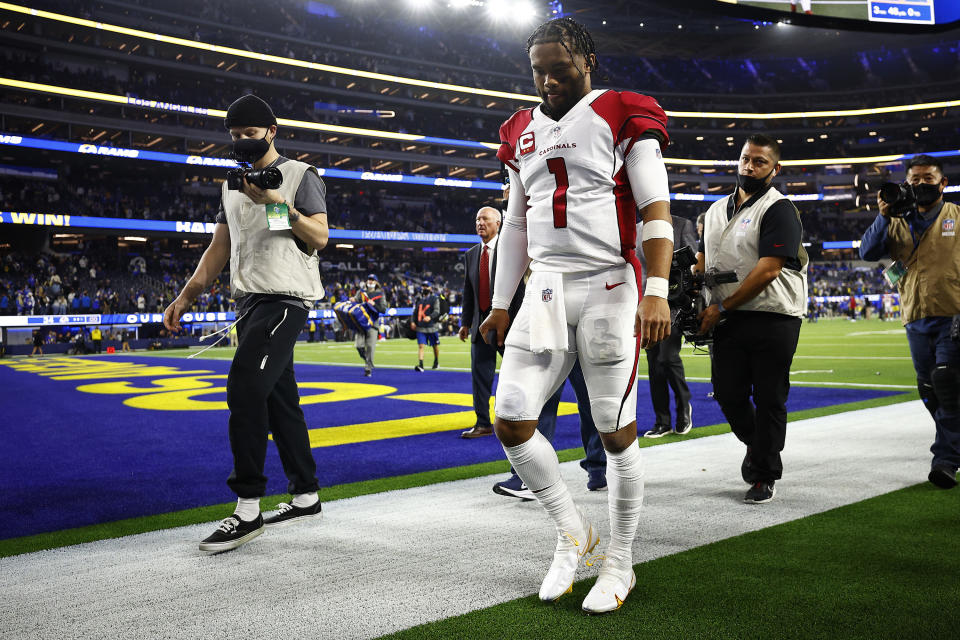
M 907 162 L 902 185 L 886 183 L 877 197 L 880 214 L 863 234 L 860 257 L 890 256 L 884 271 L 900 291 L 920 399 L 936 423 L 927 479 L 941 489 L 957 485 L 960 466 L 960 207 L 943 201 L 947 179 L 936 158 Z

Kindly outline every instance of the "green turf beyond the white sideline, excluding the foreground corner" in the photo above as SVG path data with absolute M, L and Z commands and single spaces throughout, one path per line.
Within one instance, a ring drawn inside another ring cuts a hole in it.
M 186 357 L 191 351 L 171 350 L 156 353 L 167 357 Z M 138 355 L 143 355 L 143 353 L 138 352 Z M 232 357 L 232 349 L 213 349 L 204 353 L 201 357 L 208 355 L 214 358 L 229 359 Z M 298 362 L 362 366 L 352 343 L 300 343 L 295 357 Z M 694 354 L 692 350 L 685 348 L 683 358 L 689 378 L 706 379 L 708 377 L 709 358 L 705 354 Z M 410 366 L 412 368 L 416 364 L 415 361 L 416 344 L 413 341 L 390 340 L 380 343 L 377 348 L 376 362 L 378 366 Z M 441 369 L 468 370 L 470 362 L 468 345 L 453 337 L 442 339 L 440 361 Z M 426 364 L 429 366 L 431 362 L 432 355 L 428 355 Z M 790 414 L 789 419 L 791 421 L 883 406 L 917 397 L 906 336 L 898 322 L 873 320 L 852 323 L 846 320 L 823 320 L 816 324 L 805 323 L 793 370 L 808 372 L 791 376 L 795 384 L 808 383 L 831 386 L 854 384 L 863 387 L 877 385 L 880 388 L 902 391 L 902 393 L 884 398 L 794 412 Z M 645 367 L 641 363 L 641 373 L 644 371 Z M 430 372 L 425 372 L 423 375 L 424 381 L 428 382 Z M 374 374 L 373 380 L 376 381 L 376 374 Z M 708 425 L 694 429 L 691 435 L 686 436 L 686 438 L 705 437 L 726 433 L 727 431 L 729 431 L 729 427 L 726 424 Z M 668 436 L 654 441 L 641 438 L 640 444 L 641 446 L 667 444 L 674 438 L 675 436 Z M 561 461 L 579 460 L 582 456 L 582 449 L 567 449 L 559 452 Z M 504 473 L 507 469 L 506 461 L 500 461 L 356 482 L 324 488 L 323 499 L 332 501 L 381 491 L 406 489 L 462 478 Z M 270 509 L 282 499 L 286 499 L 286 496 L 267 497 L 263 501 L 263 508 L 265 510 Z M 211 522 L 219 519 L 224 510 L 229 509 L 230 506 L 216 504 L 76 529 L 0 540 L 0 557 L 132 535 L 145 531 Z

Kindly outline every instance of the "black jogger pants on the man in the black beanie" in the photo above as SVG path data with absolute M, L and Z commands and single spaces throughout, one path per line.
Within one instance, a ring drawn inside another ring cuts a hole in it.
M 316 491 L 317 464 L 293 375 L 293 347 L 307 310 L 264 301 L 237 324 L 239 345 L 227 377 L 233 472 L 227 484 L 241 498 L 259 498 L 267 488 L 263 464 L 272 433 L 290 493 Z

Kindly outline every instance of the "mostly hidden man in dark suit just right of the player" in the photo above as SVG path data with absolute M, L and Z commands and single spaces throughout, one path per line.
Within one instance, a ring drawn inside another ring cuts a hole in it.
M 637 225 L 637 233 L 643 223 Z M 639 236 L 638 236 L 639 237 Z M 690 245 L 697 247 L 697 232 L 693 223 L 680 216 L 673 217 L 673 246 L 681 249 Z M 643 280 L 647 279 L 647 263 L 643 248 L 637 246 L 637 257 L 643 267 Z M 693 407 L 690 404 L 690 387 L 687 386 L 683 360 L 680 359 L 680 347 L 683 336 L 679 331 L 670 332 L 670 337 L 647 349 L 647 374 L 650 377 L 650 397 L 653 400 L 653 413 L 656 416 L 653 427 L 643 436 L 659 438 L 671 431 L 686 435 L 693 428 Z M 669 389 L 668 389 L 669 385 Z M 670 389 L 673 389 L 676 401 L 677 421 L 672 426 L 670 418 Z

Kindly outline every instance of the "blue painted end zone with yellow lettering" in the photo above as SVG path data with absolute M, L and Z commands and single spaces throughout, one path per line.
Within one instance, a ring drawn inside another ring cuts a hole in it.
M 214 374 L 226 374 L 230 366 L 229 362 L 218 360 L 136 356 L 104 360 L 167 366 L 180 371 L 202 369 Z M 232 466 L 226 410 L 139 409 L 123 404 L 124 399 L 136 393 L 94 394 L 77 390 L 82 385 L 124 380 L 132 387 L 149 388 L 153 379 L 177 376 L 168 373 L 153 377 L 53 380 L 0 365 L 5 435 L 0 448 L 0 539 L 234 500 L 225 482 Z M 363 378 L 360 368 L 300 364 L 297 378 L 301 383 L 388 385 L 397 389 L 391 395 L 469 394 L 471 388 L 470 374 L 457 372 L 378 369 L 371 379 Z M 212 382 L 217 386 L 225 384 L 223 380 Z M 710 386 L 691 383 L 690 388 L 695 424 L 724 422 L 717 404 L 707 397 Z M 307 393 L 317 390 L 302 392 Z M 648 385 L 641 382 L 638 393 L 638 425 L 642 431 L 652 424 Z M 793 387 L 788 409 L 800 411 L 894 393 L 897 392 Z M 226 393 L 196 399 L 225 401 Z M 569 385 L 563 400 L 576 402 Z M 318 428 L 468 411 L 470 407 L 379 396 L 309 404 L 303 409 L 307 425 Z M 495 437 L 462 440 L 460 429 L 453 426 L 450 431 L 438 433 L 316 448 L 320 484 L 331 486 L 503 459 L 503 450 Z M 581 446 L 577 416 L 559 419 L 554 444 L 557 449 Z M 268 494 L 286 491 L 286 479 L 272 444 L 266 474 L 270 479 Z

